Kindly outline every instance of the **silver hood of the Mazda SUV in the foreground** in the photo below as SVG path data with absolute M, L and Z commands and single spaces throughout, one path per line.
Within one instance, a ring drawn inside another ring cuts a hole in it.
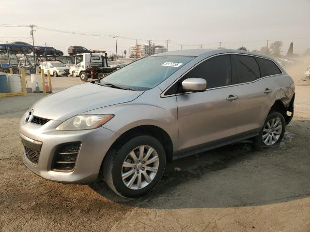
M 51 94 L 36 102 L 31 109 L 35 116 L 66 120 L 86 111 L 131 102 L 142 93 L 88 83 Z

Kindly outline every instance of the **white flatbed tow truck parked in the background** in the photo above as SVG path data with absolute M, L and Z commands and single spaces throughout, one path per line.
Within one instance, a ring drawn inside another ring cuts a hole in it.
M 109 67 L 106 51 L 92 51 L 74 55 L 74 65 L 70 68 L 70 74 L 79 76 L 81 81 L 88 78 L 98 78 L 98 74 L 105 75 L 115 71 L 117 68 Z

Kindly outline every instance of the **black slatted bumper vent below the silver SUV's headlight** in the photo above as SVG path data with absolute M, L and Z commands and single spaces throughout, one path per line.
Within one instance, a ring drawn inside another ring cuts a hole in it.
M 61 172 L 73 171 L 78 158 L 81 142 L 59 145 L 54 155 L 52 170 Z

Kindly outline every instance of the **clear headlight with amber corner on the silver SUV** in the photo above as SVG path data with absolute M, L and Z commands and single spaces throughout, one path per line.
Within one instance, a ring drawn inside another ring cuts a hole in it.
M 114 115 L 77 115 L 60 124 L 57 131 L 91 130 L 109 122 Z

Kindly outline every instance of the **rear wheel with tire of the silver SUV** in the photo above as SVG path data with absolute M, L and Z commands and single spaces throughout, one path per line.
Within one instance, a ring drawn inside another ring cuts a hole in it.
M 273 122 L 276 126 L 273 126 Z M 268 123 L 269 125 L 267 125 Z M 279 123 L 281 123 L 281 127 L 279 127 Z M 279 145 L 284 136 L 285 126 L 286 123 L 283 115 L 279 112 L 271 112 L 267 116 L 259 135 L 255 137 L 255 146 L 267 148 Z

